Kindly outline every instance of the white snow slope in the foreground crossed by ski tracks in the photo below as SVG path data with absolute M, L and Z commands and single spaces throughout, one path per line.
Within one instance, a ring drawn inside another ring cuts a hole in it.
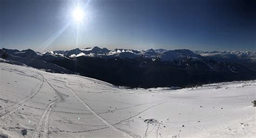
M 6 63 L 0 78 L 0 137 L 256 136 L 256 81 L 123 89 Z

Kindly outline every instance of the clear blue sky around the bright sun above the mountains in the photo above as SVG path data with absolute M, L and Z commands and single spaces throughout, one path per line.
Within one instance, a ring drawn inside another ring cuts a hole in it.
M 1 0 L 0 47 L 256 51 L 256 1 Z

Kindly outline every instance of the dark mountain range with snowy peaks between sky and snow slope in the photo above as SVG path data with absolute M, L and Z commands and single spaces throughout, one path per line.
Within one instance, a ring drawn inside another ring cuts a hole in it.
M 3 48 L 3 59 L 115 85 L 152 88 L 256 79 L 253 52 L 85 48 L 38 53 Z

